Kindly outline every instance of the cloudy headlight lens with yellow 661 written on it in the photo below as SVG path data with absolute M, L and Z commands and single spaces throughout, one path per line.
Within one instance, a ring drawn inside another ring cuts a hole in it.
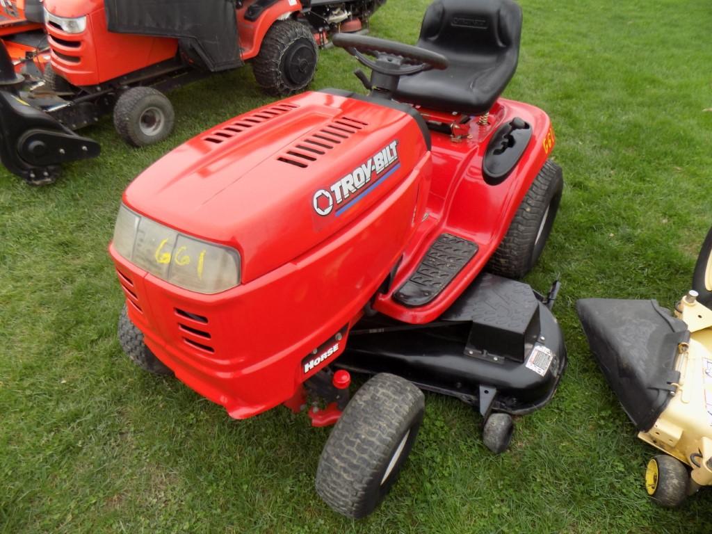
M 240 283 L 238 251 L 185 236 L 123 205 L 113 243 L 128 261 L 184 289 L 212 294 Z

